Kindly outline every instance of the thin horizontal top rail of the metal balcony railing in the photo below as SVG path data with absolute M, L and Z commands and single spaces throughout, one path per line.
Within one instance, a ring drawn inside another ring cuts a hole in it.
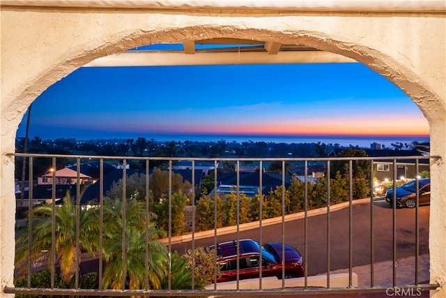
M 71 155 L 71 154 L 28 154 L 8 153 L 6 156 L 22 157 L 54 157 L 54 158 L 97 158 L 97 159 L 131 159 L 153 161 L 390 161 L 407 159 L 441 159 L 441 156 L 347 156 L 347 157 L 177 157 L 177 156 L 98 156 L 98 155 Z

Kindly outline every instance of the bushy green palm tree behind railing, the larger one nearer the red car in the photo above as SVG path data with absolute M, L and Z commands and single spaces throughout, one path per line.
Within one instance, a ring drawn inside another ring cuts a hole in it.
M 104 200 L 104 245 L 102 254 L 106 262 L 102 287 L 130 290 L 146 288 L 160 289 L 168 275 L 169 258 L 167 248 L 159 241 L 165 232 L 158 229 L 155 214 L 149 214 L 148 244 L 146 244 L 146 208 L 138 200 L 125 201 L 125 271 L 123 274 L 123 201 L 119 198 Z M 148 246 L 148 267 L 146 267 Z

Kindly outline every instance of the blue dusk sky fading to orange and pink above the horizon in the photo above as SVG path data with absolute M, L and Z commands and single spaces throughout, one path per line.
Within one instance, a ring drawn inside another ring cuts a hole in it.
M 182 133 L 429 136 L 429 124 L 362 64 L 85 67 L 34 101 L 29 137 Z

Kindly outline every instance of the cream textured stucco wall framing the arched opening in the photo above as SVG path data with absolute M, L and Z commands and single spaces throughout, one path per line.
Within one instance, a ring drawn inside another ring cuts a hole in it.
M 443 13 L 287 10 L 1 8 L 0 278 L 13 284 L 15 133 L 29 104 L 89 61 L 149 43 L 246 38 L 295 43 L 367 64 L 406 92 L 431 126 L 431 155 L 446 156 Z M 431 167 L 431 278 L 446 280 L 446 166 Z M 1 295 L 1 294 L 0 294 Z M 3 294 L 4 295 L 4 294 Z M 445 290 L 436 296 L 446 297 Z M 6 297 L 6 295 L 5 295 Z

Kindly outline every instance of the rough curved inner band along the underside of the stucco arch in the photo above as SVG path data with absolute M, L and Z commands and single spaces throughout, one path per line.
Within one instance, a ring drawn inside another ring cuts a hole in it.
M 183 27 L 180 29 L 165 29 L 162 34 L 159 32 L 144 32 L 139 28 L 135 28 L 132 32 L 127 32 L 121 36 L 121 40 L 116 39 L 116 33 L 109 32 L 109 35 L 101 36 L 98 40 L 91 40 L 90 52 L 85 51 L 85 45 L 82 40 L 70 47 L 65 53 L 61 53 L 61 59 L 55 61 L 55 66 L 52 69 L 43 69 L 40 77 L 36 77 L 36 81 L 32 86 L 26 85 L 22 94 L 17 94 L 15 100 L 21 106 L 17 107 L 13 104 L 13 109 L 18 108 L 22 111 L 19 116 L 23 116 L 26 108 L 35 100 L 45 89 L 61 80 L 66 75 L 69 75 L 77 68 L 84 66 L 84 64 L 107 56 L 109 54 L 116 54 L 123 50 L 128 50 L 134 47 L 141 47 L 144 45 L 154 43 L 182 43 L 184 37 L 187 36 L 191 40 L 200 40 L 208 38 L 239 38 L 275 41 L 284 44 L 305 45 L 314 47 L 319 50 L 327 52 L 334 52 L 342 56 L 355 59 L 356 61 L 369 66 L 369 68 L 376 71 L 380 75 L 386 77 L 390 82 L 393 82 L 397 87 L 402 89 L 412 100 L 420 107 L 424 116 L 430 122 L 434 117 L 431 110 L 446 111 L 444 103 L 440 100 L 437 94 L 429 88 L 429 82 L 426 82 L 423 77 L 419 77 L 413 73 L 405 65 L 395 61 L 392 57 L 387 56 L 385 52 L 380 52 L 371 47 L 360 44 L 352 44 L 347 36 L 337 36 L 333 38 L 323 32 L 318 31 L 288 31 L 277 32 L 270 29 L 258 28 L 243 28 L 225 30 L 224 27 Z M 227 32 L 229 31 L 229 32 Z M 102 44 L 103 39 L 114 40 L 113 43 Z M 77 47 L 77 49 L 76 49 Z M 74 53 L 79 52 L 78 55 L 73 56 Z M 416 83 L 415 83 L 416 82 Z M 429 99 L 429 100 L 427 100 Z M 426 105 L 427 103 L 427 105 Z M 441 107 L 440 109 L 438 107 Z M 19 117 L 20 118 L 20 117 Z M 21 118 L 20 118 L 21 119 Z M 20 123 L 20 121 L 19 121 Z M 17 123 L 18 126 L 18 123 Z

